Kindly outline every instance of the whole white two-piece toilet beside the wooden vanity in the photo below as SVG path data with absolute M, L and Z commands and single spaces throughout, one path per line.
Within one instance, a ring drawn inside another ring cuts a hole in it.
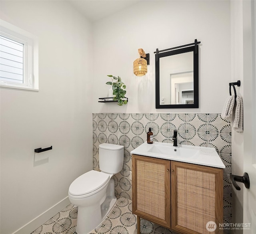
M 70 202 L 78 206 L 77 234 L 87 234 L 98 226 L 116 204 L 112 175 L 124 164 L 124 146 L 99 145 L 99 171 L 88 171 L 76 178 L 68 189 Z

